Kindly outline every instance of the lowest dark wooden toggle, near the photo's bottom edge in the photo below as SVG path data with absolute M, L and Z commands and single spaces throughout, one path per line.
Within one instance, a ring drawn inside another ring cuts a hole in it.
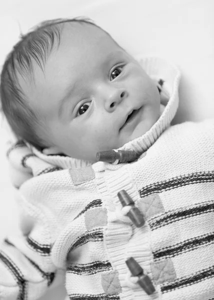
M 144 289 L 144 291 L 151 295 L 155 288 L 151 282 L 151 279 L 148 277 L 148 275 L 143 274 L 143 269 L 139 265 L 138 262 L 133 257 L 129 257 L 125 261 L 127 267 L 129 268 L 132 276 L 137 276 L 139 279 L 137 280 L 137 283 Z

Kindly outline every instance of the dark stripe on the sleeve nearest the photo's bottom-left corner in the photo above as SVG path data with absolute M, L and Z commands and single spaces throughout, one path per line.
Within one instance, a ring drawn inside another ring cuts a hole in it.
M 17 296 L 18 300 L 24 300 L 26 296 L 26 281 L 23 278 L 23 274 L 14 262 L 2 251 L 0 251 L 0 260 L 6 265 L 13 275 L 16 283 L 18 284 L 19 293 Z

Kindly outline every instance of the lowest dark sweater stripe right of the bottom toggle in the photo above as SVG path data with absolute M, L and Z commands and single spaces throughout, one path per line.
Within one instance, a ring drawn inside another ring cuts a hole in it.
M 182 288 L 188 285 L 195 284 L 197 282 L 200 282 L 202 280 L 211 278 L 214 276 L 214 266 L 211 266 L 209 268 L 203 269 L 202 271 L 199 271 L 195 273 L 192 276 L 189 277 L 182 277 L 174 280 L 172 283 L 161 285 L 161 292 L 168 292 L 175 288 Z

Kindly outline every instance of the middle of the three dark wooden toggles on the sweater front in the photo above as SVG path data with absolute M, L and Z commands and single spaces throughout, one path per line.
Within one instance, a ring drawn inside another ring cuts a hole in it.
M 131 219 L 136 227 L 141 227 L 144 225 L 145 220 L 139 209 L 134 205 L 134 201 L 131 199 L 129 194 L 124 190 L 120 190 L 117 196 L 122 204 L 122 206 L 129 206 L 130 209 L 126 215 Z

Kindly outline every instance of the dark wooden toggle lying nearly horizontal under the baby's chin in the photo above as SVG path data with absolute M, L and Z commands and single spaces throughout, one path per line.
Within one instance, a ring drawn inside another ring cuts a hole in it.
M 108 151 L 101 151 L 96 153 L 97 161 L 104 161 L 104 162 L 115 162 L 118 159 L 118 162 L 127 162 L 133 161 L 136 159 L 136 152 L 135 151 L 124 151 L 124 150 L 108 150 Z

